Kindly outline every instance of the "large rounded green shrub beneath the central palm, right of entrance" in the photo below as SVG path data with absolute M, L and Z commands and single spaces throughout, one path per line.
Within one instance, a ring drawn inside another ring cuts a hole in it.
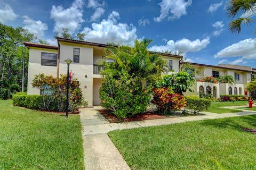
M 125 71 L 120 73 L 120 79 L 106 75 L 100 88 L 101 106 L 118 118 L 145 112 L 151 95 L 149 90 L 142 90 L 140 83 L 138 77 L 132 78 Z

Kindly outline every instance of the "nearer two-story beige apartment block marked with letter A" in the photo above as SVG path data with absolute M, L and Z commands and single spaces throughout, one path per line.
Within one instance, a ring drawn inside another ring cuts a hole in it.
M 101 75 L 98 61 L 103 57 L 103 49 L 106 44 L 90 43 L 57 38 L 58 46 L 24 43 L 29 48 L 28 64 L 28 94 L 40 94 L 40 91 L 31 86 L 34 75 L 44 73 L 59 77 L 66 74 L 67 64 L 65 60 L 70 58 L 70 71 L 81 83 L 83 96 L 88 100 L 88 105 L 99 105 L 99 88 L 101 87 Z M 153 52 L 150 52 L 153 53 Z M 169 63 L 171 70 L 179 71 L 182 56 L 160 53 Z

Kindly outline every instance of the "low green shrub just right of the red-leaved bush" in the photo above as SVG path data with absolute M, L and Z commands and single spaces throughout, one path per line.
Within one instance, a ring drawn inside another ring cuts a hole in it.
M 186 97 L 186 101 L 187 106 L 185 108 L 190 109 L 194 114 L 206 111 L 211 105 L 211 100 L 204 98 Z

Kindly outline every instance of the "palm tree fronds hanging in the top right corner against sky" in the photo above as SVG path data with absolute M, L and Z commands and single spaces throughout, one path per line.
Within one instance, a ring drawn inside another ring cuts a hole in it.
M 233 33 L 241 32 L 241 25 L 249 25 L 253 22 L 251 19 L 256 14 L 256 0 L 230 0 L 227 5 L 227 14 L 231 18 L 244 14 L 229 23 L 229 29 Z

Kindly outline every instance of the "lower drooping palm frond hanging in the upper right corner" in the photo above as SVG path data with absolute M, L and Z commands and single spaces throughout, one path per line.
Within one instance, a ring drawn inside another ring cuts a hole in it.
M 229 29 L 232 33 L 240 33 L 242 24 L 249 25 L 252 22 L 253 20 L 250 18 L 238 18 L 229 23 Z

